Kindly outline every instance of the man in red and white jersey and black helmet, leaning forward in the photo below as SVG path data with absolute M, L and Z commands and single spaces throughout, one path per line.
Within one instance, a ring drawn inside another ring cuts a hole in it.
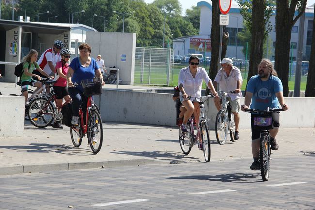
M 61 61 L 60 50 L 63 48 L 63 42 L 56 40 L 52 48 L 47 49 L 39 58 L 38 65 L 39 67 L 50 76 L 54 76 L 56 73 L 55 65 L 58 61 Z M 33 72 L 41 77 L 44 75 L 39 72 Z

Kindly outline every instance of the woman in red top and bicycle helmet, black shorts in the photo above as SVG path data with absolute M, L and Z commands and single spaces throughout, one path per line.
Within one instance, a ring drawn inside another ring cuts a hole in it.
M 69 69 L 69 60 L 70 60 L 71 52 L 69 49 L 64 48 L 60 51 L 61 61 L 57 62 L 56 64 L 56 77 L 54 84 L 54 91 L 56 93 L 56 105 L 60 107 L 63 104 L 63 98 L 65 101 L 70 102 L 70 96 L 68 92 L 67 86 L 67 73 Z M 62 129 L 63 127 L 60 125 L 60 121 L 54 122 L 52 125 L 53 128 Z

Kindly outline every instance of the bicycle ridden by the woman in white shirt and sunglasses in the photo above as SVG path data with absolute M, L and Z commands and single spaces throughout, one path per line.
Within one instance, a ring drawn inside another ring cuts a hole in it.
M 202 146 L 203 146 L 202 149 L 204 152 L 205 162 L 210 162 L 210 157 L 211 157 L 210 137 L 209 137 L 209 130 L 208 130 L 209 118 L 205 116 L 205 111 L 204 111 L 205 110 L 204 102 L 208 100 L 210 97 L 214 97 L 214 96 L 208 95 L 205 97 L 200 97 L 201 99 L 201 101 L 199 102 L 200 118 L 199 118 L 198 127 L 197 127 L 197 134 L 194 135 L 193 117 L 190 117 L 187 122 L 187 126 L 188 126 L 187 133 L 182 133 L 182 130 L 180 127 L 178 129 L 179 145 L 185 155 L 189 154 L 189 152 L 191 151 L 191 148 L 201 136 Z

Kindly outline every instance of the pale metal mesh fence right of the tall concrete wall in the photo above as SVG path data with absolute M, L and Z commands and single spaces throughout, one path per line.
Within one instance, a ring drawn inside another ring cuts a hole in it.
M 172 84 L 173 55 L 173 49 L 136 47 L 134 84 Z

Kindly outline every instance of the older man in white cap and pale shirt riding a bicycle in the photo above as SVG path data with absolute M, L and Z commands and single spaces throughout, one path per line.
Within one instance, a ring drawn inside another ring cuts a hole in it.
M 227 98 L 231 104 L 231 111 L 234 115 L 235 132 L 234 139 L 239 139 L 238 125 L 239 125 L 239 109 L 240 109 L 240 98 L 243 97 L 241 87 L 243 78 L 239 68 L 233 66 L 233 62 L 229 58 L 223 58 L 220 62 L 222 68 L 218 71 L 213 86 L 217 89 L 217 84 L 220 85 L 220 90 L 223 92 L 234 91 L 234 93 L 228 93 Z M 218 109 L 221 109 L 220 97 L 214 98 L 214 103 Z

